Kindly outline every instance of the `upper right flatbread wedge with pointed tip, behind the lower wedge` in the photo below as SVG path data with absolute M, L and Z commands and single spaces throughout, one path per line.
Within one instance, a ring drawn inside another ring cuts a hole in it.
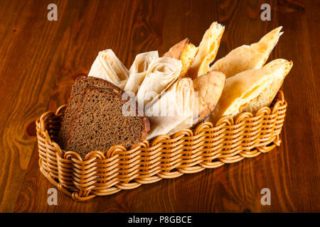
M 275 28 L 257 43 L 242 45 L 231 50 L 228 55 L 217 60 L 210 67 L 210 70 L 221 71 L 228 78 L 245 70 L 260 69 L 265 65 L 274 46 L 277 45 L 279 37 L 282 35 L 281 29 L 281 26 Z

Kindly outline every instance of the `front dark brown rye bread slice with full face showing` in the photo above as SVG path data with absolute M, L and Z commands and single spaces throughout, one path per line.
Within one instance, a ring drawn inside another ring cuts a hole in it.
M 122 100 L 122 94 L 123 91 L 113 88 L 86 87 L 66 150 L 85 157 L 92 150 L 107 151 L 112 145 L 129 148 L 146 140 L 148 118 L 138 116 L 137 109 L 136 116 L 124 116 L 122 106 L 127 100 Z

